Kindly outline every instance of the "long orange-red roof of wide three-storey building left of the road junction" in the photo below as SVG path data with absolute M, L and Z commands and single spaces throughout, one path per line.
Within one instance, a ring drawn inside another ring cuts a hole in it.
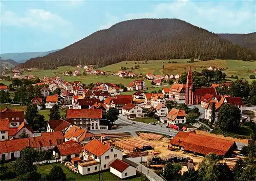
M 72 118 L 102 118 L 101 109 L 68 109 L 67 119 Z

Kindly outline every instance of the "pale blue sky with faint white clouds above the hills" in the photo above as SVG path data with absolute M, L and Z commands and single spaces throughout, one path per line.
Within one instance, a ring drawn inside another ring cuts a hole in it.
M 256 1 L 0 0 L 0 53 L 64 48 L 137 18 L 178 18 L 214 33 L 251 33 Z

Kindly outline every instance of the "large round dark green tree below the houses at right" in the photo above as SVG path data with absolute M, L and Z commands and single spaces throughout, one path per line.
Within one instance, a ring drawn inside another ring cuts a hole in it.
M 240 109 L 232 104 L 223 104 L 219 110 L 219 127 L 224 131 L 235 132 L 240 125 Z

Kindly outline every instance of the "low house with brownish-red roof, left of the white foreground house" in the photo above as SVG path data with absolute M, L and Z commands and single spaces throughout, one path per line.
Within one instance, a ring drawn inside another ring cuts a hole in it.
M 71 161 L 72 158 L 79 157 L 82 150 L 82 146 L 77 142 L 68 141 L 55 146 L 53 148 L 53 155 L 55 156 L 55 159 Z

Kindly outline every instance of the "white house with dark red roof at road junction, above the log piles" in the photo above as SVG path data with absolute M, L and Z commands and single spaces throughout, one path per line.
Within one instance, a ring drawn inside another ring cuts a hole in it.
M 142 111 L 143 109 L 140 106 L 132 103 L 127 103 L 122 106 L 122 115 L 129 119 L 142 117 Z

